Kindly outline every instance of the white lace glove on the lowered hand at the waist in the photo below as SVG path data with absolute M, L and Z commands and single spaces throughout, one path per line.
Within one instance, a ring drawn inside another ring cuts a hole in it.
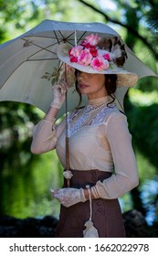
M 60 188 L 50 190 L 53 197 L 57 198 L 58 201 L 66 208 L 78 204 L 79 202 L 85 202 L 86 198 L 84 196 L 83 188 Z

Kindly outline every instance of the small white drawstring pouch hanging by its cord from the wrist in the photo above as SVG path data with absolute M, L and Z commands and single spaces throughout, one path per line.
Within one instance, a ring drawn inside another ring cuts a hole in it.
M 89 191 L 89 198 L 90 198 L 90 219 L 85 223 L 86 229 L 83 230 L 83 238 L 99 238 L 98 230 L 93 226 L 93 222 L 91 221 L 92 205 L 91 205 L 90 186 L 87 186 L 87 188 Z

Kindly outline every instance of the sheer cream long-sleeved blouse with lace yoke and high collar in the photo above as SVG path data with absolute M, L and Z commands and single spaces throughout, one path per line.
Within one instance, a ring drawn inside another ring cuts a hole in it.
M 111 199 L 138 186 L 139 178 L 126 116 L 107 101 L 104 97 L 68 114 L 68 148 L 71 169 L 112 172 L 96 183 L 100 197 Z M 52 123 L 42 120 L 34 128 L 31 151 L 41 154 L 56 148 L 66 168 L 65 137 L 65 119 L 53 131 Z

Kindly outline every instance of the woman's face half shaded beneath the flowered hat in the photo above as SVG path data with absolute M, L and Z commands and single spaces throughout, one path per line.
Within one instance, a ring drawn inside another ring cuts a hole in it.
M 81 94 L 87 94 L 89 99 L 97 99 L 106 96 L 105 75 L 90 74 L 78 71 L 78 88 Z

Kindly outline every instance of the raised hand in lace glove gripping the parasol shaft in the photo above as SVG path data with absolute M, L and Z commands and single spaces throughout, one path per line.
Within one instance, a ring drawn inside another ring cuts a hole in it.
M 54 97 L 53 101 L 51 102 L 52 107 L 60 109 L 60 107 L 65 101 L 67 90 L 68 90 L 68 83 L 65 80 L 59 80 L 58 84 L 52 87 L 53 97 Z

